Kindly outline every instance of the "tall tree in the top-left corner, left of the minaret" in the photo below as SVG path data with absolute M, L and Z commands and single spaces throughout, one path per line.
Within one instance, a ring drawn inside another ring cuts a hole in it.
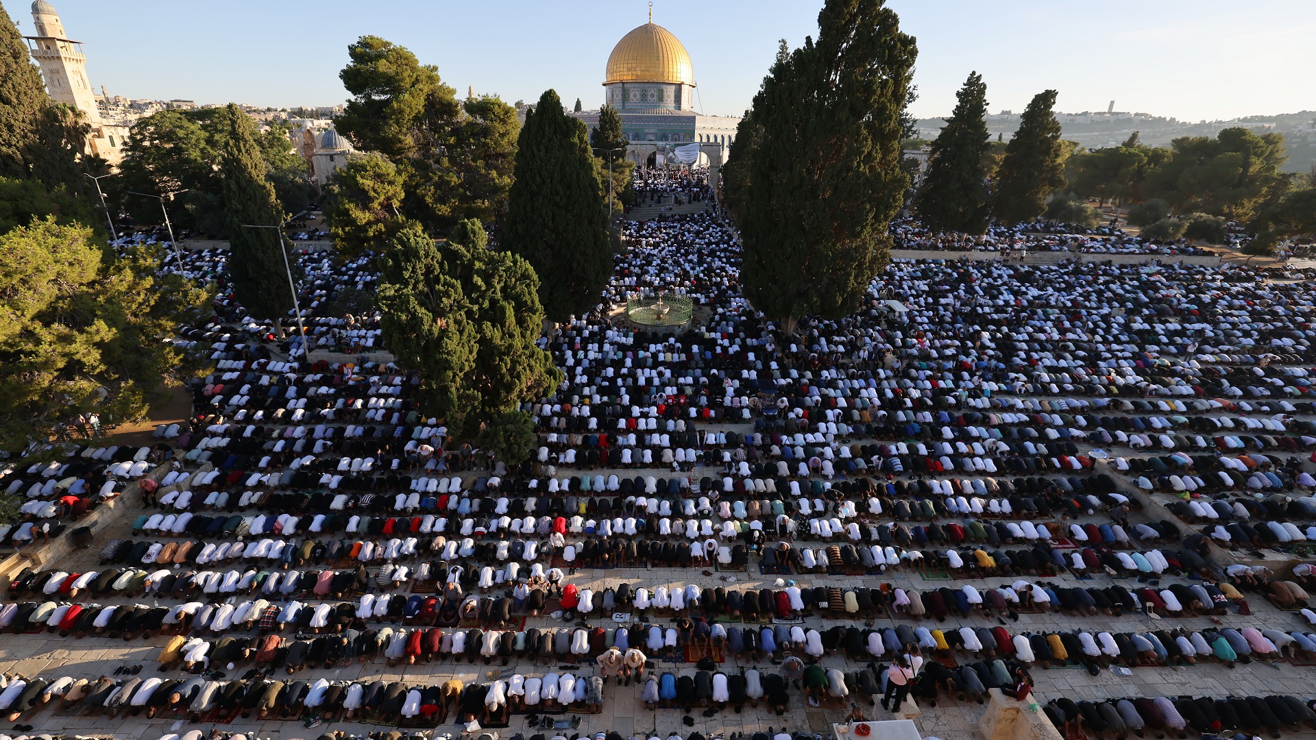
M 18 26 L 0 5 L 0 176 L 28 178 L 28 153 L 50 105 Z

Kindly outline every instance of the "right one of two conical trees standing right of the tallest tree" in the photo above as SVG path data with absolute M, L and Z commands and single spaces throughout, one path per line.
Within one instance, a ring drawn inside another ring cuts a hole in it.
M 1005 225 L 1032 221 L 1046 211 L 1046 199 L 1065 187 L 1065 145 L 1061 122 L 1051 107 L 1055 91 L 1033 96 L 1019 121 L 1015 138 L 996 170 L 996 221 Z

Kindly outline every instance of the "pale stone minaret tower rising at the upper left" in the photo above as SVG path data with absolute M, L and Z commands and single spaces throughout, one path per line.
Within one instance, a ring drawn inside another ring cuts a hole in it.
M 25 37 L 28 50 L 41 67 L 50 99 L 82 111 L 91 125 L 88 154 L 117 165 L 124 158 L 121 149 L 128 138 L 128 128 L 101 119 L 96 91 L 87 79 L 87 57 L 82 53 L 82 42 L 67 38 L 59 13 L 46 0 L 32 4 L 32 20 L 37 26 L 37 36 Z

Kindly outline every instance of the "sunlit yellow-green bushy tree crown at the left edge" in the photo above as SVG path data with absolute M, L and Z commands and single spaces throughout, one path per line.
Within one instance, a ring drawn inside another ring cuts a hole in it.
M 158 254 L 124 258 L 80 224 L 38 219 L 0 234 L 0 446 L 45 440 L 57 423 L 99 412 L 142 419 L 187 369 L 166 341 L 208 294 L 155 275 Z

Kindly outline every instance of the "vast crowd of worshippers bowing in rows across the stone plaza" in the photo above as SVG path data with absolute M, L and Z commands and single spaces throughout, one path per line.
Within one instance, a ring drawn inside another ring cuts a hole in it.
M 784 715 L 792 690 L 809 704 L 934 706 L 990 689 L 1024 699 L 1032 672 L 1053 666 L 1316 658 L 1309 568 L 1212 556 L 1316 539 L 1305 283 L 1250 267 L 898 261 L 859 311 L 792 336 L 740 294 L 724 223 L 625 228 L 605 302 L 545 337 L 566 378 L 525 406 L 537 445 L 511 466 L 449 440 L 413 400 L 413 371 L 275 359 L 271 323 L 226 292 L 226 257 L 186 254 L 188 274 L 221 288 L 215 316 L 184 332 L 216 365 L 192 417 L 150 446 L 84 446 L 0 477 L 25 499 L 5 539 L 100 548 L 95 570 L 20 573 L 0 628 L 151 639 L 159 670 L 9 675 L 0 712 L 496 726 L 594 711 L 616 679 L 654 708 Z M 313 342 L 376 349 L 378 316 L 330 313 L 337 291 L 374 284 L 370 258 L 299 262 Z M 699 325 L 609 319 L 659 292 L 690 296 Z M 130 482 L 142 510 L 128 531 L 78 527 Z M 1178 521 L 1148 517 L 1149 498 Z M 597 593 L 576 582 L 576 569 L 616 566 L 654 570 Z M 780 578 L 751 589 L 688 571 L 703 568 Z M 971 582 L 903 589 L 886 582 L 894 570 Z M 821 574 L 844 585 L 795 582 Z M 1292 628 L 1250 621 L 1253 594 L 1292 611 Z M 607 624 L 615 611 L 636 623 Z M 536 627 L 554 612 L 579 623 Z M 1117 619 L 1012 629 L 1028 612 Z M 1216 624 L 1148 629 L 1146 616 Z M 826 621 L 801 621 L 815 618 Z M 880 618 L 895 621 L 866 623 Z M 740 665 L 687 657 L 713 653 Z M 511 668 L 468 683 L 313 675 L 449 660 Z M 1042 710 L 1111 736 L 1316 720 L 1294 697 L 1079 699 Z

